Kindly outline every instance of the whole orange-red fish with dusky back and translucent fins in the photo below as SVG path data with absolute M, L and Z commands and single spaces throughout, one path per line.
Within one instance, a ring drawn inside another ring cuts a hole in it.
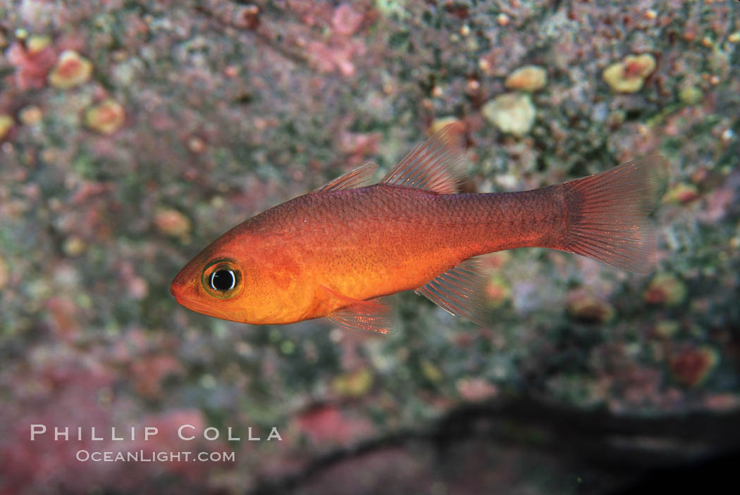
M 414 290 L 480 322 L 476 256 L 552 248 L 639 273 L 654 263 L 647 219 L 665 185 L 662 157 L 531 191 L 460 194 L 463 129 L 446 126 L 386 177 L 367 164 L 237 225 L 172 281 L 178 303 L 217 318 L 289 324 L 327 317 L 387 333 L 386 301 Z

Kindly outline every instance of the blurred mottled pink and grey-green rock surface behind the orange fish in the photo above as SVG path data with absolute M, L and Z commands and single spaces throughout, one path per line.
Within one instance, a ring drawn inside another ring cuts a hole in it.
M 0 493 L 610 494 L 736 465 L 739 76 L 731 0 L 0 0 Z M 387 337 L 170 296 L 223 231 L 454 120 L 468 191 L 664 154 L 656 272 L 494 253 L 485 327 L 403 293 Z

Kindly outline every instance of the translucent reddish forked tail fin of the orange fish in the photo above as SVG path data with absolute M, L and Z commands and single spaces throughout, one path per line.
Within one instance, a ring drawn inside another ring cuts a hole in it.
M 647 215 L 666 182 L 667 160 L 657 154 L 565 182 L 565 250 L 625 270 L 650 272 L 656 262 L 656 241 Z

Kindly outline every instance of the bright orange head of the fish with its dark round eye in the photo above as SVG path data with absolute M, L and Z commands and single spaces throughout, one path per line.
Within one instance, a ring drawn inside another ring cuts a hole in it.
M 169 291 L 196 313 L 249 324 L 295 321 L 300 289 L 286 273 L 273 239 L 232 229 L 198 253 L 175 276 Z M 305 293 L 305 291 L 303 291 Z

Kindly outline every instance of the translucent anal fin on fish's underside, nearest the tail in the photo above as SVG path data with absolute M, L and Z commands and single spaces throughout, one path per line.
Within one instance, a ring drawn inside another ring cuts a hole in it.
M 452 315 L 484 325 L 483 289 L 487 271 L 480 258 L 468 258 L 414 292 Z

